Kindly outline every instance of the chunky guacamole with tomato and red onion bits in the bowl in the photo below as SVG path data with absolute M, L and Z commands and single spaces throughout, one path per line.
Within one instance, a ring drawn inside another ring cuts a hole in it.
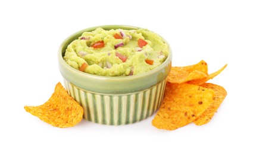
M 71 42 L 64 60 L 82 72 L 101 76 L 138 75 L 157 68 L 168 56 L 168 44 L 146 29 L 84 32 Z

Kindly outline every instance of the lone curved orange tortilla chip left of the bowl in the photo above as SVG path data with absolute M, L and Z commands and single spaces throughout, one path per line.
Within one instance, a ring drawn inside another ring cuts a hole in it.
M 60 82 L 55 86 L 54 94 L 45 104 L 24 108 L 40 120 L 60 128 L 73 127 L 83 118 L 83 108 L 68 95 Z

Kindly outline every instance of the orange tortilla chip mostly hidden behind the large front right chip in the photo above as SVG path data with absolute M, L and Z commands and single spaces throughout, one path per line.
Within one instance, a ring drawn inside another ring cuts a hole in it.
M 211 118 L 213 118 L 214 113 L 216 113 L 218 107 L 220 107 L 220 104 L 223 102 L 224 98 L 227 95 L 226 90 L 222 86 L 210 83 L 205 83 L 200 86 L 213 89 L 216 95 L 214 97 L 215 99 L 213 101 L 213 104 L 211 104 L 210 107 L 208 107 L 202 115 L 200 115 L 198 118 L 196 118 L 195 121 L 193 121 L 193 123 L 198 126 L 207 124 L 211 120 Z

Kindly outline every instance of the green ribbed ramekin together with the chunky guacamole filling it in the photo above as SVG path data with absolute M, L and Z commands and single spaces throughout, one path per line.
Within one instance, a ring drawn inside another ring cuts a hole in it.
M 172 52 L 163 37 L 146 28 L 101 25 L 71 34 L 58 50 L 68 94 L 93 123 L 122 125 L 157 111 Z

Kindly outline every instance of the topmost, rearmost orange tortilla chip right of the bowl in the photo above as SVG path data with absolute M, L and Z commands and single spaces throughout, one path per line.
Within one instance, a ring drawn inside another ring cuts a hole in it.
M 167 81 L 173 84 L 182 84 L 194 79 L 206 78 L 208 75 L 208 66 L 204 60 L 191 66 L 172 67 L 167 77 Z

